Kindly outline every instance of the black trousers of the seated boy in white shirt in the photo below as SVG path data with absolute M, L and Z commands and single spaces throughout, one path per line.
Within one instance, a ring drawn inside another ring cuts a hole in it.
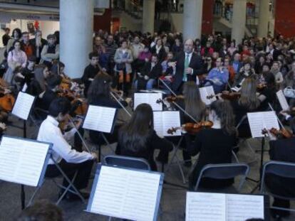
M 91 169 L 93 166 L 92 160 L 85 161 L 83 163 L 68 163 L 64 159 L 62 159 L 61 162 L 58 163 L 58 166 L 61 167 L 63 172 L 66 173 L 66 176 L 68 176 L 70 180 L 72 180 L 76 171 L 78 171 L 76 179 L 73 182 L 73 185 L 75 185 L 75 187 L 78 190 L 81 190 L 88 186 L 88 180 L 89 180 Z M 45 177 L 54 178 L 60 175 L 61 175 L 61 171 L 58 170 L 56 165 L 50 164 L 47 166 Z M 68 181 L 65 178 L 63 178 L 63 186 L 65 187 L 68 186 Z

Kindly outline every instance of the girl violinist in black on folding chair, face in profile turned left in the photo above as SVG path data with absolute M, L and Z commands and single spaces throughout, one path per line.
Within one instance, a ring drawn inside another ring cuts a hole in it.
M 232 148 L 236 144 L 236 129 L 234 128 L 234 114 L 228 101 L 212 102 L 209 109 L 209 120 L 212 128 L 202 129 L 197 133 L 195 141 L 189 146 L 192 156 L 200 153 L 197 165 L 190 174 L 189 185 L 193 189 L 202 168 L 209 163 L 232 163 Z M 232 185 L 233 180 L 214 180 L 203 178 L 204 188 L 221 188 Z

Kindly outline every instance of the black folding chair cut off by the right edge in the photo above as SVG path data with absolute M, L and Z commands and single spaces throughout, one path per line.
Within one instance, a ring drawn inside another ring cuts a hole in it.
M 295 198 L 276 195 L 274 193 L 271 193 L 271 190 L 269 190 L 269 188 L 267 188 L 267 186 L 264 183 L 266 173 L 280 176 L 282 178 L 295 178 L 295 163 L 289 163 L 289 162 L 283 162 L 283 161 L 269 161 L 264 163 L 263 170 L 262 170 L 262 180 L 260 183 L 260 193 L 267 193 L 274 198 L 279 198 L 282 200 L 295 200 Z M 276 210 L 285 210 L 285 211 L 295 212 L 295 209 L 288 209 L 288 208 L 274 207 L 274 206 L 271 206 L 271 208 Z

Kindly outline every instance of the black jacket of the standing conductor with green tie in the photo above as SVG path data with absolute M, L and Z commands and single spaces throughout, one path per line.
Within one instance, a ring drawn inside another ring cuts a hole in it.
M 179 53 L 175 61 L 177 62 L 176 73 L 175 73 L 175 80 L 172 84 L 172 90 L 177 91 L 177 90 L 180 90 L 180 85 L 182 84 L 183 72 L 185 72 L 185 52 Z M 196 53 L 192 53 L 192 58 L 190 60 L 189 67 L 192 68 L 192 70 L 194 71 L 192 75 L 187 75 L 188 81 L 196 81 L 196 76 L 202 75 L 204 72 L 202 58 Z

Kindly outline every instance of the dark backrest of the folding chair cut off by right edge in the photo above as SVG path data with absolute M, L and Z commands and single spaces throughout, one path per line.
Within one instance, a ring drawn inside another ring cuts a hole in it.
M 284 161 L 269 161 L 264 163 L 262 170 L 262 181 L 260 184 L 261 193 L 264 192 L 264 179 L 266 173 L 271 173 L 284 178 L 295 178 L 295 163 Z

